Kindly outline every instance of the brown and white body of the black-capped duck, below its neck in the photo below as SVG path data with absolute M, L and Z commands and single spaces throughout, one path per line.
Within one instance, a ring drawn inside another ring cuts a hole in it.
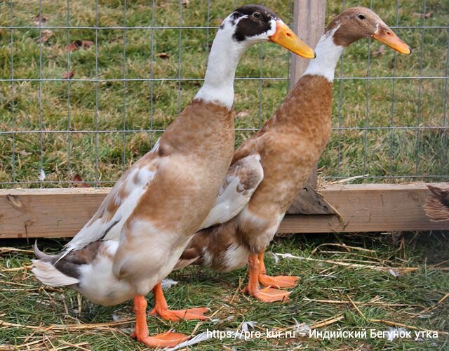
M 86 235 L 90 241 L 65 256 L 39 258 L 79 279 L 72 289 L 95 303 L 114 305 L 148 293 L 173 270 L 208 216 L 233 150 L 234 112 L 194 100 L 105 198 L 86 225 L 95 239 Z M 135 207 L 126 220 L 114 220 L 127 206 Z

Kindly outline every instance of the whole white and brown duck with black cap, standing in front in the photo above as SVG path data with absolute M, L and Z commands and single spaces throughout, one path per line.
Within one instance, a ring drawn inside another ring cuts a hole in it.
M 268 8 L 236 9 L 217 31 L 201 90 L 154 148 L 121 176 L 64 251 L 50 256 L 35 246 L 39 259 L 32 272 L 41 282 L 67 286 L 100 305 L 134 298 L 134 334 L 147 346 L 173 346 L 186 338 L 171 332 L 149 336 L 145 295 L 154 289 L 156 312 L 179 315 L 160 300 L 160 282 L 213 207 L 234 151 L 236 66 L 250 46 L 265 41 L 314 57 Z M 194 309 L 190 317 L 202 313 Z

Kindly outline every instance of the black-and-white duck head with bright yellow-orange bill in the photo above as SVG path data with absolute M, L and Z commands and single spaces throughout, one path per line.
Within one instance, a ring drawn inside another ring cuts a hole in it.
M 222 22 L 220 31 L 232 34 L 236 46 L 248 47 L 264 41 L 273 41 L 303 58 L 316 56 L 276 13 L 261 5 L 237 8 Z

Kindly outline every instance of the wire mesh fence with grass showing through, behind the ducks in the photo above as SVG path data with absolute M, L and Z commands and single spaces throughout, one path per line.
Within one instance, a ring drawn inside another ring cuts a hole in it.
M 245 1 L 0 4 L 0 187 L 109 186 L 201 86 L 215 29 Z M 264 1 L 293 24 L 295 1 Z M 448 180 L 449 4 L 327 1 L 327 21 L 372 7 L 413 47 L 360 41 L 337 67 L 321 176 Z M 286 95 L 290 55 L 250 49 L 236 72 L 236 144 Z

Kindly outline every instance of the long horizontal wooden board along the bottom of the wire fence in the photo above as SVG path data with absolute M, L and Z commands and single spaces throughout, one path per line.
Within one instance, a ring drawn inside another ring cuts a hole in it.
M 449 190 L 449 183 L 434 183 Z M 93 216 L 109 189 L 0 190 L 0 238 L 72 237 Z M 422 206 L 424 183 L 330 185 L 321 190 L 344 219 L 287 215 L 279 232 L 378 232 L 449 230 L 431 222 Z

